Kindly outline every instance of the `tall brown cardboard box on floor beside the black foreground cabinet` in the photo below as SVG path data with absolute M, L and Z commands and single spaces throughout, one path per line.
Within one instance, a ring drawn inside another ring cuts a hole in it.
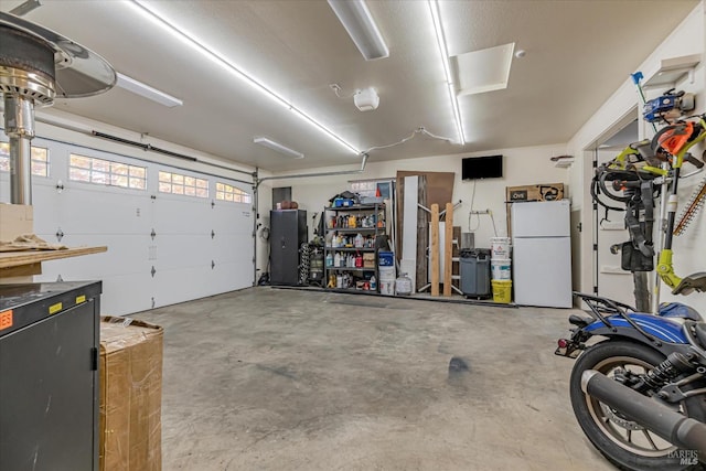
M 162 328 L 100 318 L 100 471 L 162 469 Z

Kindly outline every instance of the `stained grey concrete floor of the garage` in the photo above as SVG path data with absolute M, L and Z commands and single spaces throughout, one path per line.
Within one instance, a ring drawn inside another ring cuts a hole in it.
M 164 327 L 163 469 L 613 469 L 554 355 L 569 313 L 260 287 L 136 314 Z

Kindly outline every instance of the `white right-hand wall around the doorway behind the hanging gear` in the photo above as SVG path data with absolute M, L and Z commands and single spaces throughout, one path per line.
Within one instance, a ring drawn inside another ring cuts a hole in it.
M 695 84 L 680 84 L 683 88 L 693 88 L 698 92 L 697 111 L 706 110 L 706 97 L 704 95 L 704 84 L 706 83 L 706 68 L 704 61 L 704 52 L 706 44 L 706 11 L 704 1 L 702 1 L 692 13 L 684 19 L 681 25 L 638 67 L 645 77 L 654 75 L 659 69 L 661 61 L 672 57 L 680 57 L 691 54 L 702 54 L 702 62 L 695 71 Z M 619 52 L 619 45 L 617 45 Z M 664 92 L 664 90 L 656 90 Z M 638 103 L 638 95 L 634 85 L 629 77 L 625 83 L 598 109 L 598 111 L 584 125 L 584 127 L 570 139 L 568 143 L 568 153 L 571 153 L 582 160 L 571 168 L 570 182 L 574 188 L 584 184 L 584 191 L 573 192 L 573 204 L 575 210 L 581 211 L 581 222 L 584 227 L 590 228 L 592 225 L 591 202 L 588 194 L 588 182 L 591 178 L 591 164 L 589 152 L 586 149 L 592 144 L 606 132 L 619 122 L 631 107 Z M 700 151 L 699 151 L 700 152 Z M 699 179 L 684 182 L 680 196 L 684 202 L 694 184 Z M 703 246 L 704 234 L 706 233 L 706 217 L 704 214 L 698 216 L 698 221 L 689 227 L 688 233 L 676 239 L 675 242 L 675 259 L 674 266 L 677 275 L 684 276 L 695 271 L 706 270 L 706 250 L 699 248 Z M 702 244 L 699 244 L 699 239 Z M 584 231 L 581 235 L 581 274 L 580 290 L 590 292 L 592 290 L 592 254 L 591 254 L 591 232 Z M 663 288 L 662 292 L 668 291 Z M 702 312 L 706 312 L 706 297 L 693 296 L 688 299 L 684 297 L 674 298 L 670 295 L 663 296 L 665 301 L 678 300 L 687 302 Z

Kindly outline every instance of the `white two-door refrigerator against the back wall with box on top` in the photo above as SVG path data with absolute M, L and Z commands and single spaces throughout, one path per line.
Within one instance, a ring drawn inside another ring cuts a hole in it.
M 515 303 L 570 308 L 568 200 L 511 204 Z

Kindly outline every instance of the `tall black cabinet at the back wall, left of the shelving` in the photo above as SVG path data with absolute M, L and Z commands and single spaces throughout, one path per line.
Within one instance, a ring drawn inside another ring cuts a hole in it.
M 271 285 L 299 283 L 299 248 L 309 239 L 307 212 L 269 212 L 269 279 Z

